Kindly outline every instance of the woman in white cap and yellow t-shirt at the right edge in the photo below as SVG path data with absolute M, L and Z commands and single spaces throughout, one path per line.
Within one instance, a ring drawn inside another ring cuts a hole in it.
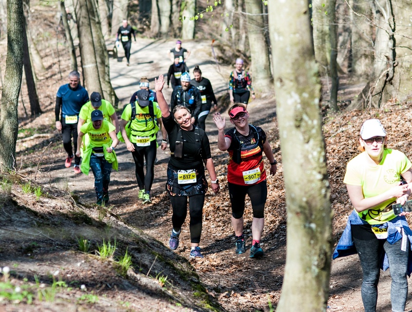
M 379 120 L 365 121 L 359 138 L 362 153 L 348 163 L 343 180 L 355 210 L 347 229 L 352 231 L 362 266 L 361 293 L 366 312 L 376 311 L 380 261 L 385 253 L 391 267 L 392 311 L 404 311 L 408 295 L 411 230 L 404 217 L 406 213 L 396 216 L 392 204 L 403 205 L 411 194 L 401 177 L 412 182 L 412 165 L 405 154 L 387 148 L 386 141 L 386 131 Z

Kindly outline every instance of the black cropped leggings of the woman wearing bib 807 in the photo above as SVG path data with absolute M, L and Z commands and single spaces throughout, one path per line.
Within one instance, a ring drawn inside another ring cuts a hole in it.
M 235 219 L 243 217 L 246 194 L 249 195 L 252 203 L 253 217 L 264 218 L 266 197 L 268 195 L 266 180 L 253 185 L 237 185 L 228 182 L 228 186 L 232 203 L 232 216 Z

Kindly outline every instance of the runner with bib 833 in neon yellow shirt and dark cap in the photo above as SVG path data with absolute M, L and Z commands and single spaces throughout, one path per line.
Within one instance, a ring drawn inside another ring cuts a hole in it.
M 138 199 L 150 204 L 150 190 L 155 177 L 157 153 L 157 131 L 161 130 L 163 140 L 161 149 L 167 147 L 167 132 L 161 121 L 161 111 L 156 102 L 150 100 L 150 92 L 137 91 L 137 99 L 127 104 L 121 114 L 120 132 L 127 150 L 132 153 L 136 166 L 136 179 L 139 187 Z M 128 133 L 129 132 L 129 133 Z M 146 174 L 144 162 L 146 161 Z

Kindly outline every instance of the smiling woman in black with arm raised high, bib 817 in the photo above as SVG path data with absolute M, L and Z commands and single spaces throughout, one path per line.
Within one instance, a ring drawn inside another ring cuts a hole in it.
M 169 247 L 176 250 L 179 246 L 181 227 L 187 216 L 189 202 L 191 258 L 203 258 L 199 248 L 202 233 L 203 204 L 208 183 L 205 169 L 209 172 L 211 186 L 215 193 L 220 189 L 215 166 L 210 153 L 209 139 L 206 133 L 192 124 L 187 107 L 177 105 L 170 112 L 164 99 L 162 89 L 163 75 L 156 81 L 156 92 L 163 125 L 169 134 L 170 160 L 167 166 L 166 191 L 172 204 L 172 234 Z

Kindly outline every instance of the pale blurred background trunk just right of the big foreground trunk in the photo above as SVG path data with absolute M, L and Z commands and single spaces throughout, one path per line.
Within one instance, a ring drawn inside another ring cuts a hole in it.
M 331 55 L 328 3 L 325 5 L 325 2 L 329 1 L 312 0 L 314 55 L 322 76 L 329 73 L 329 58 Z

